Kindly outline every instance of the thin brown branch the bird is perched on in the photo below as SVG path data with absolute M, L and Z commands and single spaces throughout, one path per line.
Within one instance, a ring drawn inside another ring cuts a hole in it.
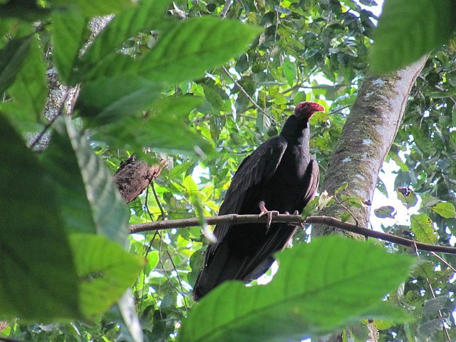
M 266 216 L 259 217 L 256 214 L 253 215 L 239 215 L 239 214 L 228 214 L 222 216 L 206 217 L 206 222 L 209 225 L 231 222 L 232 224 L 243 224 L 243 223 L 266 223 L 268 218 Z M 429 252 L 441 252 L 447 254 L 456 254 L 455 247 L 438 246 L 434 244 L 423 244 L 422 242 L 416 242 L 405 237 L 398 237 L 393 234 L 385 232 L 378 232 L 363 227 L 358 227 L 356 224 L 348 222 L 342 222 L 339 219 L 326 216 L 309 216 L 306 219 L 302 219 L 300 215 L 287 215 L 279 214 L 276 217 L 272 217 L 272 222 L 281 222 L 294 224 L 300 226 L 302 224 L 326 224 L 330 227 L 343 229 L 348 232 L 364 235 L 366 237 L 373 237 L 375 239 L 381 239 L 394 244 L 401 244 L 403 246 L 418 248 L 423 251 Z M 171 228 L 184 228 L 184 227 L 195 227 L 201 224 L 197 217 L 190 219 L 170 219 L 167 221 L 155 221 L 141 224 L 133 224 L 130 226 L 130 234 L 136 234 L 140 232 L 150 232 L 155 230 L 171 229 Z

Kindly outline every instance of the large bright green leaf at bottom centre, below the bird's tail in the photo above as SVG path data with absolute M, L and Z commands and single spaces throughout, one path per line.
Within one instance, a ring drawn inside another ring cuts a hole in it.
M 413 259 L 370 242 L 321 237 L 278 254 L 264 286 L 218 286 L 182 322 L 179 341 L 290 341 L 328 333 L 380 310 Z M 372 316 L 370 316 L 372 315 Z

